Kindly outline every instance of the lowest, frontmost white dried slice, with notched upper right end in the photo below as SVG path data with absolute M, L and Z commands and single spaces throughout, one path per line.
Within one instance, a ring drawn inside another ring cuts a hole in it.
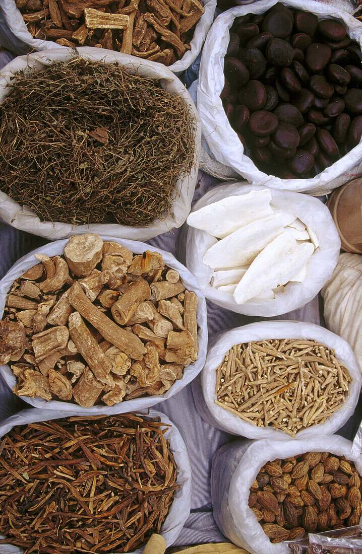
M 289 233 L 274 239 L 253 261 L 234 292 L 237 304 L 285 285 L 303 268 L 314 252 L 312 243 L 297 244 Z

